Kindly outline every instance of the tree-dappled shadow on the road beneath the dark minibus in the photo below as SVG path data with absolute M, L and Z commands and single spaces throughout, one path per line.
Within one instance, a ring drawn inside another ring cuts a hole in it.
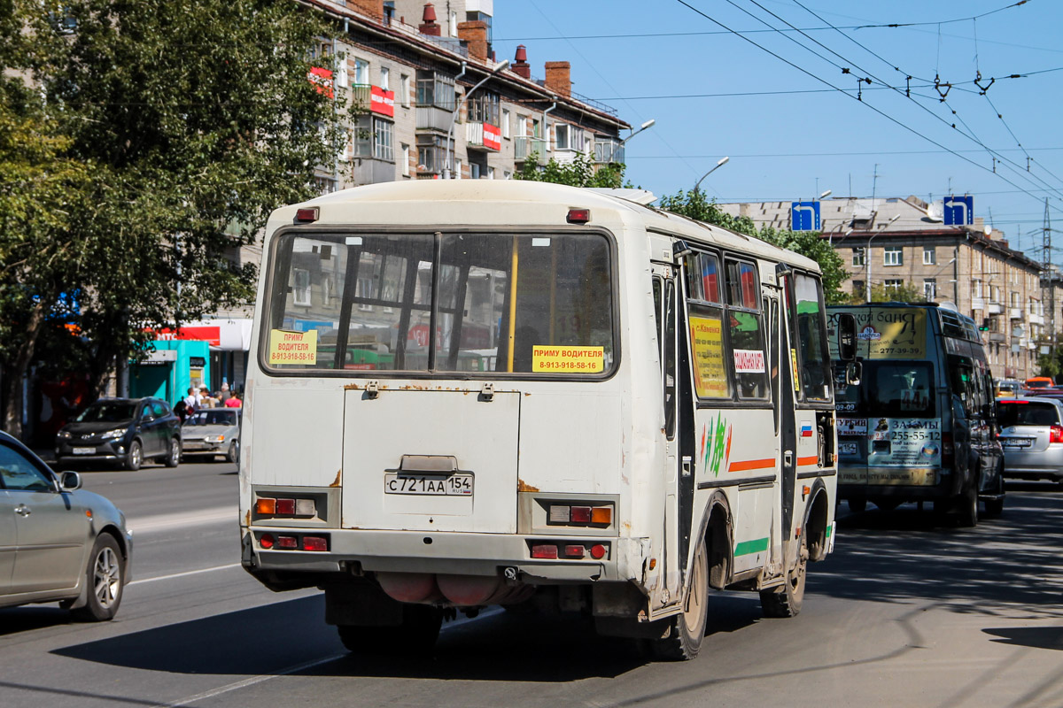
M 937 525 L 914 504 L 841 516 L 834 553 L 809 569 L 809 591 L 850 600 L 933 602 L 958 612 L 1063 617 L 1063 498 L 1009 494 L 974 529 Z

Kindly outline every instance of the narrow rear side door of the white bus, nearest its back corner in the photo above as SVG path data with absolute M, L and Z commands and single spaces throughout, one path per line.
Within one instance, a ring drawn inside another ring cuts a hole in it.
M 669 599 L 679 598 L 682 563 L 678 542 L 679 462 L 677 455 L 676 418 L 676 281 L 675 267 L 653 263 L 654 313 L 657 323 L 658 356 L 661 363 L 661 402 L 664 412 L 662 429 L 664 444 L 664 508 L 663 568 L 661 576 Z M 689 530 L 687 531 L 689 533 Z M 667 602 L 664 603 L 667 604 Z

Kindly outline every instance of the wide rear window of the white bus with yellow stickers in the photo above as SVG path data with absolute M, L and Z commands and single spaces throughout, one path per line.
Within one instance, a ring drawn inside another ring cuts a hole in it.
M 601 375 L 612 264 L 596 234 L 283 235 L 272 369 Z

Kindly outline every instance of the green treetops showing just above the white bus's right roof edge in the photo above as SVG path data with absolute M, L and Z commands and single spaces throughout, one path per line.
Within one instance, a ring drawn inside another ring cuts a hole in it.
M 823 292 L 827 304 L 847 301 L 847 295 L 840 288 L 849 276 L 842 267 L 841 256 L 819 231 L 779 230 L 766 226 L 758 229 L 752 219 L 726 213 L 716 205 L 715 200 L 709 201 L 701 191 L 679 191 L 674 195 L 660 197 L 659 204 L 665 211 L 752 236 L 814 260 L 823 272 Z

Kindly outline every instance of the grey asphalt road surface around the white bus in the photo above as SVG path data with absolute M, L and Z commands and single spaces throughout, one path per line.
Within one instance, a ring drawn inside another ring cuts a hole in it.
M 1001 519 L 906 505 L 845 516 L 802 614 L 720 593 L 702 656 L 647 663 L 578 619 L 489 611 L 427 658 L 348 656 L 313 590 L 238 566 L 234 466 L 87 472 L 135 530 L 115 621 L 0 609 L 0 706 L 1060 706 L 1063 490 L 1015 483 Z

